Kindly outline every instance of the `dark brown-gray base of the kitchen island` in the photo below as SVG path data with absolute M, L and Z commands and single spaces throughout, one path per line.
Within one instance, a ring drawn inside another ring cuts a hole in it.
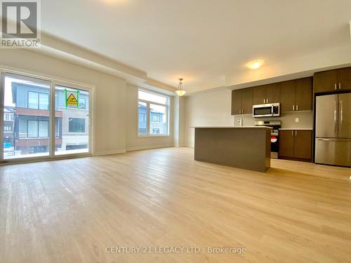
M 265 173 L 270 168 L 270 128 L 195 127 L 195 160 Z

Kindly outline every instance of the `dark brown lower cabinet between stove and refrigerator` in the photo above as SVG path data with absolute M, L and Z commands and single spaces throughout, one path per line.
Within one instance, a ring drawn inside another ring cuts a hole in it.
M 312 161 L 312 130 L 279 130 L 279 159 Z

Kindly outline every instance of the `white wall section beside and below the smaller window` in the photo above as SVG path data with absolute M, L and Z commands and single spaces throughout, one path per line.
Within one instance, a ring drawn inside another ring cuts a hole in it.
M 170 119 L 173 120 L 173 97 L 171 97 L 171 105 L 169 108 Z M 173 122 L 170 123 L 169 136 L 138 136 L 138 87 L 127 84 L 126 95 L 126 149 L 133 151 L 137 149 L 148 149 L 155 147 L 171 147 L 173 146 Z

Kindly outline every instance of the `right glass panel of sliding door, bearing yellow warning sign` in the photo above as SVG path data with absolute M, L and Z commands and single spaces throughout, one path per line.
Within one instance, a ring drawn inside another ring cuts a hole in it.
M 89 91 L 55 86 L 55 155 L 89 151 Z

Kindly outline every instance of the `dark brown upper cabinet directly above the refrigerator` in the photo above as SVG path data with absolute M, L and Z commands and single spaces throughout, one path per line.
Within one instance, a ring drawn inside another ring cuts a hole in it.
M 314 73 L 314 93 L 351 90 L 351 67 Z

